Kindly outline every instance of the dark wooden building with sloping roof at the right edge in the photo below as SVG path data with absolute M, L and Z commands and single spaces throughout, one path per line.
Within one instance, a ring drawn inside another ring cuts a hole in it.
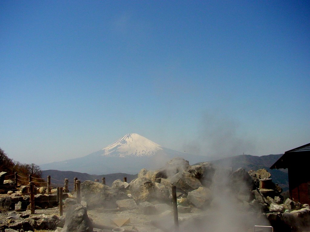
M 270 169 L 288 169 L 290 199 L 310 204 L 310 143 L 286 151 Z

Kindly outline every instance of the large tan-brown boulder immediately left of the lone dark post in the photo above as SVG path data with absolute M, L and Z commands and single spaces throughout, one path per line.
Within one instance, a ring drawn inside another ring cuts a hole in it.
M 131 181 L 129 190 L 137 204 L 144 201 L 169 200 L 168 188 L 163 184 L 154 183 L 146 177 L 139 177 Z

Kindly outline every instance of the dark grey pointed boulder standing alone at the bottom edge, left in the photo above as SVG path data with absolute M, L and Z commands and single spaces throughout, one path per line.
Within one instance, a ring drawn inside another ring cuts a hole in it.
M 66 221 L 62 232 L 92 232 L 91 220 L 87 216 L 86 207 L 75 204 L 66 213 Z

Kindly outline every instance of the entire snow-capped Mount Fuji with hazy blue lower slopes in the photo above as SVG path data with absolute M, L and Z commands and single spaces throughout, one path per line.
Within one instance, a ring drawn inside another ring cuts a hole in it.
M 173 157 L 182 157 L 190 163 L 206 161 L 207 158 L 164 148 L 138 134 L 127 134 L 113 144 L 84 157 L 42 164 L 40 167 L 42 170 L 88 174 L 137 174 L 142 168 L 161 168 Z

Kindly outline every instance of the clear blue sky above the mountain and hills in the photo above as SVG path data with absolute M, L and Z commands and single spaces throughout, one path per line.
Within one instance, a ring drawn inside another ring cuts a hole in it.
M 24 163 L 138 133 L 225 157 L 310 142 L 309 1 L 0 1 L 0 147 Z

